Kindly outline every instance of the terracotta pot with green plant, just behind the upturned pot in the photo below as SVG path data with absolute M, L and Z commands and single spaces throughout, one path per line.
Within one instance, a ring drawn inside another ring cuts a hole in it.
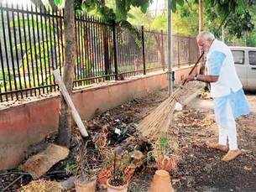
M 175 156 L 172 156 L 169 158 L 167 156 L 160 155 L 157 158 L 156 164 L 157 164 L 157 169 L 170 172 L 171 170 L 176 169 L 177 160 Z

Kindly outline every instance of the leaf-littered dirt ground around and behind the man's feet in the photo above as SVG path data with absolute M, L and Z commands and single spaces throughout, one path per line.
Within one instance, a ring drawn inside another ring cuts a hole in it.
M 229 163 L 221 161 L 225 153 L 206 147 L 206 141 L 217 141 L 211 99 L 197 97 L 183 112 L 175 114 L 181 159 L 178 169 L 170 174 L 177 191 L 256 191 L 256 96 L 248 93 L 247 97 L 252 114 L 237 120 L 243 155 Z

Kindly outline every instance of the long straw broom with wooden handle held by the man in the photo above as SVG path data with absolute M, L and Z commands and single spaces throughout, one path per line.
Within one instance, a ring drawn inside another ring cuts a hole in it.
M 196 69 L 197 64 L 201 60 L 204 53 L 200 55 L 196 64 L 191 69 L 189 75 Z M 157 106 L 148 116 L 138 123 L 138 130 L 145 138 L 155 140 L 159 136 L 159 132 L 167 132 L 171 124 L 172 114 L 175 111 L 175 104 L 177 96 L 185 93 L 185 80 L 182 84 L 159 106 Z

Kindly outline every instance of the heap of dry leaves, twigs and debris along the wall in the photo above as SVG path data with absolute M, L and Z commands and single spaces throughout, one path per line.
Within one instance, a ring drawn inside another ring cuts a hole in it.
M 77 191 L 95 189 L 96 185 L 97 189 L 112 185 L 128 188 L 133 174 L 144 168 L 153 170 L 152 173 L 157 169 L 175 170 L 180 157 L 175 154 L 179 144 L 174 132 L 159 134 L 152 143 L 137 129 L 138 122 L 167 96 L 167 91 L 159 91 L 107 112 L 96 112 L 93 119 L 84 122 L 88 138 L 82 138 L 74 128 L 70 150 L 53 144 L 56 136 L 46 138 L 31 148 L 30 157 L 20 167 L 22 171 L 19 169 L 18 179 L 4 179 L 8 184 L 4 183 L 3 189 L 22 187 L 23 191 L 33 191 L 39 187 L 44 191 L 59 191 L 74 189 L 75 185 Z

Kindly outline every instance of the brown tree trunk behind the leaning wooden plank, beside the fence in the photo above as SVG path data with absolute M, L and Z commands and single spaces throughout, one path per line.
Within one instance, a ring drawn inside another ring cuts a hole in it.
M 74 80 L 74 65 L 76 62 L 76 32 L 74 0 L 65 1 L 64 10 L 64 37 L 65 37 L 65 65 L 63 81 L 71 95 Z M 59 143 L 70 147 L 71 143 L 71 110 L 67 106 L 64 97 L 60 94 L 60 118 L 59 118 Z

